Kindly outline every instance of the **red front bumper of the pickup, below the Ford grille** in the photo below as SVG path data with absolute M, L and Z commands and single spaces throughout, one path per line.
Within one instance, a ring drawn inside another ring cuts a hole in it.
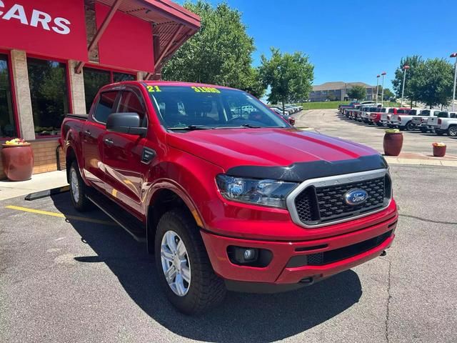
M 382 222 L 358 229 L 355 232 L 298 242 L 239 239 L 219 236 L 204 230 L 201 231 L 201 236 L 204 239 L 214 271 L 220 277 L 236 282 L 257 282 L 281 288 L 284 285 L 317 282 L 379 256 L 383 250 L 391 246 L 395 237 L 397 220 L 398 213 L 394 212 L 386 215 Z M 376 246 L 371 246 L 370 249 L 357 251 L 353 248 L 361 247 L 364 242 L 372 242 L 373 237 L 383 237 L 383 240 Z M 227 253 L 229 246 L 268 249 L 273 254 L 273 258 L 266 267 L 246 267 L 233 264 Z M 295 263 L 291 264 L 293 257 L 302 259 L 305 255 L 315 257 L 319 254 L 319 256 L 326 254 L 326 256 L 335 257 L 336 252 L 347 253 L 341 255 L 341 259 L 333 259 L 327 264 L 308 265 L 307 259 L 304 259 L 303 265 L 298 264 L 298 267 L 291 267 L 297 265 L 297 259 L 294 259 Z

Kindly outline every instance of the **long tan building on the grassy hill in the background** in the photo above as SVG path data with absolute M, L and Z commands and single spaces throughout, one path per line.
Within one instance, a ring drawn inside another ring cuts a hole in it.
M 313 86 L 313 90 L 309 94 L 310 101 L 344 101 L 348 100 L 348 91 L 353 86 L 364 86 L 366 88 L 366 100 L 374 100 L 376 98 L 376 86 L 370 86 L 363 82 L 326 82 Z

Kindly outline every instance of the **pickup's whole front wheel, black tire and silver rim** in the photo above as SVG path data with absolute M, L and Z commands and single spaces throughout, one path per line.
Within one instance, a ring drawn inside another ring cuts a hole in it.
M 200 314 L 224 300 L 224 281 L 214 274 L 199 228 L 188 213 L 173 209 L 161 217 L 155 248 L 161 286 L 180 312 Z

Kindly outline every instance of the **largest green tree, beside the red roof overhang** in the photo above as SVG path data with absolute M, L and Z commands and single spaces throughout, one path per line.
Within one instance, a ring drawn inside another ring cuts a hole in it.
M 186 1 L 184 7 L 199 14 L 201 29 L 166 63 L 164 79 L 220 84 L 262 95 L 265 89 L 251 67 L 255 46 L 241 12 L 226 3 L 213 7 L 203 0 Z

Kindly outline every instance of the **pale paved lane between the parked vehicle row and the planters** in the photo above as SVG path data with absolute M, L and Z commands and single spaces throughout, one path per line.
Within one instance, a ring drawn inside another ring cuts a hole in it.
M 338 114 L 336 109 L 313 109 L 301 111 L 294 115 L 296 126 L 309 126 L 322 134 L 338 136 L 350 141 L 357 141 L 383 152 L 383 136 L 386 127 L 368 125 L 347 119 L 346 116 Z M 436 134 L 421 131 L 403 131 L 402 152 L 432 154 L 431 144 L 436 141 L 443 141 L 447 145 L 446 154 L 457 156 L 457 138 L 449 136 L 438 136 Z

